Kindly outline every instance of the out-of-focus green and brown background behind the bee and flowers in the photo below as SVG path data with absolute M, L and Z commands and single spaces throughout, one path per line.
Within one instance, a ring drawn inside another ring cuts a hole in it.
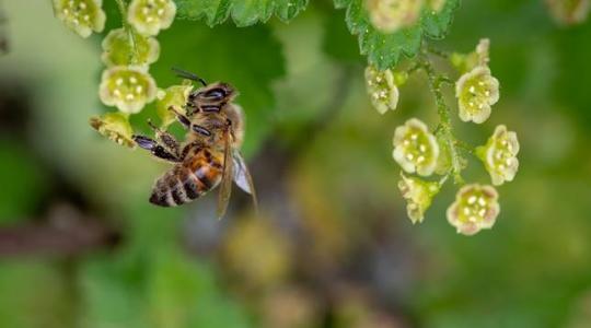
M 179 66 L 241 91 L 263 211 L 235 190 L 222 221 L 215 195 L 149 204 L 166 165 L 89 127 L 105 110 L 101 35 L 67 30 L 50 1 L 2 7 L 1 328 L 591 327 L 591 22 L 560 27 L 540 0 L 464 1 L 432 43 L 491 39 L 501 99 L 482 126 L 454 118 L 455 131 L 483 144 L 505 124 L 521 142 L 495 227 L 465 237 L 445 220 L 453 186 L 415 226 L 396 187 L 395 127 L 437 122 L 425 77 L 380 116 L 329 1 L 289 24 L 176 21 L 158 37 L 159 86 Z M 135 126 L 147 131 L 147 117 L 153 106 Z M 471 161 L 465 177 L 486 183 Z

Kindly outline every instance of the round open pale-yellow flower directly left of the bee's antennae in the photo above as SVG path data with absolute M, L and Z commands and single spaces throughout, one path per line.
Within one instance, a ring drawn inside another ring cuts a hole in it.
M 103 72 L 99 96 L 107 106 L 136 114 L 155 98 L 157 85 L 146 67 L 115 66 Z

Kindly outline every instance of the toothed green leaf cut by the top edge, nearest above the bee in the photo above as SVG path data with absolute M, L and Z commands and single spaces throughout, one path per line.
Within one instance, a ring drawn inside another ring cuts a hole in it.
M 237 26 L 268 21 L 276 15 L 289 22 L 305 9 L 309 0 L 175 0 L 177 16 L 205 20 L 209 26 L 223 23 L 229 16 Z

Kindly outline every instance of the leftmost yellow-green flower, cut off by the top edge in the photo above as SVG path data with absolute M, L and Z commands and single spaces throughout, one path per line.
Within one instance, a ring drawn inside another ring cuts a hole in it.
M 54 13 L 66 26 L 82 37 L 105 27 L 102 0 L 54 0 Z

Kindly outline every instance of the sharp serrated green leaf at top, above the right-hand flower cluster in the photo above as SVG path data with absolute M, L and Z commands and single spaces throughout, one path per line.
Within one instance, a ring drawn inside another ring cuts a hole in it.
M 375 30 L 368 16 L 363 0 L 335 0 L 336 8 L 346 8 L 346 22 L 349 32 L 358 36 L 359 48 L 368 61 L 380 70 L 394 67 L 402 56 L 414 57 L 422 36 L 443 38 L 451 25 L 453 13 L 460 0 L 448 0 L 440 12 L 425 9 L 420 23 L 392 34 Z

